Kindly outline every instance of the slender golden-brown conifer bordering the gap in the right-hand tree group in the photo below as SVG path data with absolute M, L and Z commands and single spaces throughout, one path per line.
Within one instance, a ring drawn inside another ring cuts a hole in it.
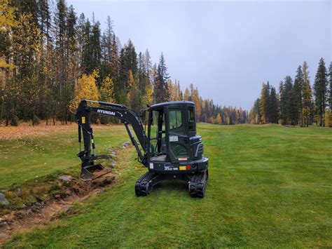
M 310 86 L 309 72 L 307 71 L 307 62 L 303 62 L 303 98 L 302 98 L 302 115 L 304 125 L 309 126 L 310 114 L 312 108 L 312 90 Z

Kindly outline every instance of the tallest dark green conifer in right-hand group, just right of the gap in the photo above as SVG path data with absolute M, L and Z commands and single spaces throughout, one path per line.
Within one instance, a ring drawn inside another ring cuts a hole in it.
M 314 105 L 319 116 L 319 126 L 325 126 L 325 109 L 327 102 L 327 72 L 324 59 L 319 60 L 319 65 L 314 79 Z

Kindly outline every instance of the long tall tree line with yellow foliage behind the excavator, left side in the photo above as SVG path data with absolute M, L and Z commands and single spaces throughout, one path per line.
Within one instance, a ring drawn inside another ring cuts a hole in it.
M 130 40 L 122 45 L 110 17 L 102 32 L 94 15 L 78 16 L 65 0 L 0 0 L 0 13 L 0 124 L 67 123 L 83 98 L 137 112 L 157 102 L 191 100 L 198 121 L 249 121 L 241 108 L 202 99 L 193 84 L 183 92 L 170 79 L 165 56 L 153 64 L 147 49 L 137 53 Z

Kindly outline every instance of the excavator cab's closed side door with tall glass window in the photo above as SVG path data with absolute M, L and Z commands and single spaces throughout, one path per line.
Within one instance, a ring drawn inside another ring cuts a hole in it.
M 167 112 L 168 141 L 171 161 L 187 161 L 189 158 L 188 129 L 183 108 L 170 107 Z

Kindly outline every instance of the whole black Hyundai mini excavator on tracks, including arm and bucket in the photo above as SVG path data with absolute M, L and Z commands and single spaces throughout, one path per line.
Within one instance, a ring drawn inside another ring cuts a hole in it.
M 95 179 L 103 170 L 97 159 L 92 132 L 92 114 L 120 119 L 132 144 L 138 161 L 148 171 L 135 184 L 137 196 L 148 196 L 155 185 L 164 180 L 182 180 L 188 183 L 191 197 L 203 198 L 209 178 L 209 159 L 203 156 L 202 137 L 196 133 L 195 103 L 172 101 L 151 105 L 137 114 L 125 105 L 94 100 L 82 100 L 76 112 L 78 142 L 81 159 L 81 179 Z M 147 134 L 146 134 L 147 121 Z M 134 135 L 132 130 L 134 130 Z M 81 149 L 83 135 L 84 147 Z

